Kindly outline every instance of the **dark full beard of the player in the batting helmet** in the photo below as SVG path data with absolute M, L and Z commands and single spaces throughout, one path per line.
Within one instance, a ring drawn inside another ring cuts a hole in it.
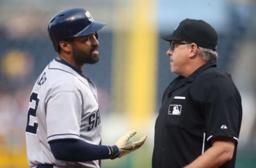
M 78 49 L 77 47 L 73 47 L 73 56 L 74 60 L 78 64 L 95 64 L 99 61 L 99 55 L 93 54 L 93 51 L 97 49 L 96 46 L 92 47 L 89 54 L 82 49 Z

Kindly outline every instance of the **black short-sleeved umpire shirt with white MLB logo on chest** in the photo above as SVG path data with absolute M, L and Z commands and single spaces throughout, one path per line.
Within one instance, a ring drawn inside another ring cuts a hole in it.
M 213 137 L 236 141 L 242 121 L 241 96 L 230 74 L 208 62 L 166 88 L 155 123 L 153 168 L 183 167 L 211 147 Z

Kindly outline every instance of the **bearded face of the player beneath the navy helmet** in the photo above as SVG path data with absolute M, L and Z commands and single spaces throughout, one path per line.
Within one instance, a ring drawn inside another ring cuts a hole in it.
M 73 58 L 77 64 L 94 64 L 99 61 L 99 41 L 95 37 L 95 33 L 75 37 L 71 45 L 73 48 Z

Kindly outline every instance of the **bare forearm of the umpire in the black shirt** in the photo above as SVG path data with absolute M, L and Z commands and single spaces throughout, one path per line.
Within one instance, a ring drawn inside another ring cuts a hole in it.
M 215 144 L 206 150 L 195 161 L 185 166 L 184 168 L 192 167 L 219 167 L 230 161 L 234 153 L 234 144 L 229 142 L 215 142 Z

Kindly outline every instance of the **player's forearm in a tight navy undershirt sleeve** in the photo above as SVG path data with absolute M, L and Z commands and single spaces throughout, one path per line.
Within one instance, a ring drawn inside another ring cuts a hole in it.
M 75 139 L 55 140 L 50 142 L 50 147 L 53 156 L 56 159 L 68 162 L 86 162 L 98 159 L 108 159 L 113 155 L 111 147 L 93 145 Z

